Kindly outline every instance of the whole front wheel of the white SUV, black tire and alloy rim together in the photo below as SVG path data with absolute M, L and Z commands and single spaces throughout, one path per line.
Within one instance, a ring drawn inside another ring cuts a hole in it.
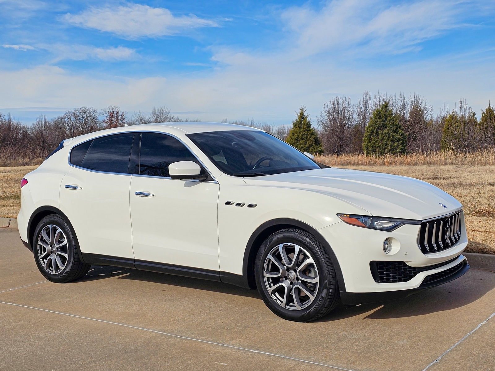
M 289 321 L 314 321 L 330 313 L 340 300 L 327 250 L 301 230 L 285 229 L 270 235 L 258 250 L 254 274 L 266 306 Z

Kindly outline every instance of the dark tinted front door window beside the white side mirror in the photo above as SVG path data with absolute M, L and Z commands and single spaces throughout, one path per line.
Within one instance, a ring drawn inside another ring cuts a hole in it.
M 179 140 L 165 134 L 143 133 L 139 173 L 155 177 L 169 177 L 168 165 L 177 161 L 193 161 L 196 157 Z M 204 174 L 204 170 L 201 171 Z

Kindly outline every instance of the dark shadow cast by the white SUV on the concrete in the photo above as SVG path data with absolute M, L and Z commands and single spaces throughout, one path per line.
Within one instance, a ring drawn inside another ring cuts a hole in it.
M 228 283 L 110 266 L 91 267 L 91 270 L 81 279 L 81 281 L 110 277 L 188 287 L 261 300 L 261 296 L 257 290 L 250 290 Z M 466 306 L 483 297 L 487 292 L 494 288 L 495 274 L 488 271 L 471 269 L 467 274 L 460 278 L 441 286 L 413 294 L 407 298 L 381 303 L 362 304 L 350 308 L 346 308 L 340 303 L 329 315 L 316 322 L 338 321 L 349 317 L 361 316 L 368 312 L 371 313 L 366 315 L 364 319 L 391 319 L 422 316 Z

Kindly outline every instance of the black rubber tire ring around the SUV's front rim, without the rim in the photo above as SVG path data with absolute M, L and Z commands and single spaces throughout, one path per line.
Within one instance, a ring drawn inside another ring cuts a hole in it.
M 304 247 L 310 253 L 318 269 L 320 282 L 318 291 L 316 293 L 316 298 L 307 308 L 298 311 L 289 310 L 277 304 L 268 292 L 268 288 L 266 287 L 264 281 L 263 269 L 265 259 L 268 253 L 275 246 L 281 243 L 294 243 Z M 315 317 L 319 317 L 321 307 L 324 305 L 326 297 L 328 295 L 329 275 L 327 272 L 327 267 L 325 267 L 320 253 L 318 252 L 315 244 L 310 239 L 305 238 L 295 232 L 276 232 L 269 236 L 263 242 L 256 255 L 255 278 L 256 286 L 258 287 L 258 291 L 260 292 L 266 306 L 276 315 L 290 321 L 307 322 L 311 321 Z

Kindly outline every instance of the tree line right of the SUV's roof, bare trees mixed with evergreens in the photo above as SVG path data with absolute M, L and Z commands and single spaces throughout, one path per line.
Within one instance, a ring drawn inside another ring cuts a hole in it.
M 301 107 L 286 139 L 304 152 L 332 155 L 473 152 L 495 146 L 495 111 L 489 102 L 478 120 L 461 99 L 451 111 L 444 106 L 435 114 L 418 94 L 396 97 L 365 92 L 356 104 L 350 97 L 330 99 L 315 128 Z

